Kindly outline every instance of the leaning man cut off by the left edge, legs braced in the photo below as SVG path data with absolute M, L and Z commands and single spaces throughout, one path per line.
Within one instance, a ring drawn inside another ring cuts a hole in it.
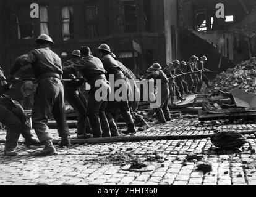
M 12 84 L 4 81 L 4 72 L 0 67 L 0 123 L 7 127 L 6 143 L 4 147 L 4 155 L 17 156 L 15 148 L 19 140 L 20 134 L 25 139 L 25 145 L 40 145 L 40 142 L 32 139 L 26 116 L 23 108 L 19 103 L 14 102 L 9 96 L 4 95 L 12 88 Z

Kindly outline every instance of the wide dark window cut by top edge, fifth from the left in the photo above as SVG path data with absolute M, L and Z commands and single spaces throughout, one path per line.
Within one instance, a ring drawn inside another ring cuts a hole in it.
M 117 23 L 119 33 L 137 31 L 137 14 L 134 0 L 119 0 Z

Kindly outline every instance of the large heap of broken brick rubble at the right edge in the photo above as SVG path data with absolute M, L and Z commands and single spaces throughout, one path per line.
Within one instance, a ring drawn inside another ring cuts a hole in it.
M 244 61 L 226 72 L 220 73 L 213 81 L 214 90 L 230 92 L 234 88 L 256 95 L 256 58 Z

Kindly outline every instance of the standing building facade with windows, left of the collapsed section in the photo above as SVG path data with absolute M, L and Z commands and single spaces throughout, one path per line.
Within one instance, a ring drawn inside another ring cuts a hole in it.
M 36 18 L 30 16 L 33 3 L 39 6 Z M 98 56 L 96 47 L 106 43 L 138 75 L 177 56 L 176 0 L 0 0 L 0 6 L 0 65 L 6 74 L 40 34 L 53 38 L 62 61 L 82 45 Z M 20 74 L 29 76 L 30 67 Z

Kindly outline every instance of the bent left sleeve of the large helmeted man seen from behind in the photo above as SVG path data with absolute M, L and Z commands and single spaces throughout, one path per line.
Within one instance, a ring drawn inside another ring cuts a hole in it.
M 14 75 L 15 73 L 17 73 L 17 71 L 20 70 L 21 67 L 28 65 L 30 63 L 33 63 L 35 61 L 36 61 L 36 55 L 35 55 L 35 51 L 33 50 L 28 54 L 18 57 L 12 65 L 10 75 L 11 76 Z

